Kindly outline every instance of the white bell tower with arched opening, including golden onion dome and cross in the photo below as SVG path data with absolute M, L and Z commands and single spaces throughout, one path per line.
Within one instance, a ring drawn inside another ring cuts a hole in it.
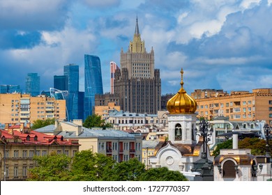
M 168 134 L 172 143 L 195 144 L 197 102 L 183 88 L 183 69 L 181 69 L 181 88 L 167 102 Z

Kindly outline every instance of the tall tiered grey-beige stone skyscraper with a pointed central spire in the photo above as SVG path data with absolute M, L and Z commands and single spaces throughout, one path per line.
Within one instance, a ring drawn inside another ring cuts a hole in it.
M 120 98 L 123 111 L 157 114 L 161 107 L 160 70 L 155 69 L 154 50 L 146 52 L 136 19 L 133 41 L 128 52 L 121 49 L 121 68 L 116 70 L 114 95 Z

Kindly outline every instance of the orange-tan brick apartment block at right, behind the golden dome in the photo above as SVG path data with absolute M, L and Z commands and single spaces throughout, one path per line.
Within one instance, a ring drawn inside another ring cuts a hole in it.
M 232 91 L 229 95 L 197 99 L 197 117 L 211 120 L 225 116 L 229 120 L 266 120 L 272 124 L 272 89 L 257 88 L 248 91 Z

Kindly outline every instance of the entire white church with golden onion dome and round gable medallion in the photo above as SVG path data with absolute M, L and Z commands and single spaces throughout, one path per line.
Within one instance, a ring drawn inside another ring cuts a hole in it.
M 180 171 L 188 180 L 195 180 L 199 172 L 192 171 L 196 163 L 204 158 L 212 164 L 213 156 L 209 147 L 206 157 L 203 157 L 204 140 L 197 136 L 197 102 L 190 97 L 183 88 L 183 69 L 181 69 L 181 88 L 168 102 L 168 141 L 165 146 L 155 151 L 150 157 L 153 168 L 167 167 L 172 171 Z

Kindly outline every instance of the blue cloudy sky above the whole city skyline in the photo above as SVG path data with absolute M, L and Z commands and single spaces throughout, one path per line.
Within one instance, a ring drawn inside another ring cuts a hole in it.
M 25 89 L 37 72 L 40 90 L 84 54 L 100 57 L 103 90 L 109 63 L 133 40 L 136 17 L 146 52 L 153 47 L 162 94 L 183 87 L 252 91 L 272 88 L 272 0 L 0 0 L 0 84 Z

